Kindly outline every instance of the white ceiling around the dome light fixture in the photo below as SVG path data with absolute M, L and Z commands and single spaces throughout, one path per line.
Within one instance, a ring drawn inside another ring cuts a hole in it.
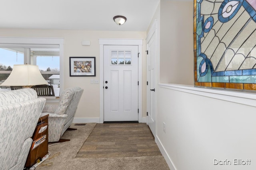
M 146 31 L 160 0 L 0 0 L 0 29 Z M 113 17 L 127 18 L 117 25 Z

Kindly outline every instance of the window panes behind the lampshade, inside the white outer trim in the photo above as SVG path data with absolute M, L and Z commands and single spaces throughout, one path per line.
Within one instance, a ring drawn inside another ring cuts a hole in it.
M 2 71 L 0 82 L 4 82 L 8 78 L 14 64 L 24 64 L 25 50 L 28 49 L 0 48 L 0 70 Z M 58 51 L 59 49 L 29 49 L 30 64 L 38 65 L 42 76 L 53 86 L 55 96 L 59 96 L 60 92 L 60 57 Z M 2 88 L 8 89 L 9 87 Z

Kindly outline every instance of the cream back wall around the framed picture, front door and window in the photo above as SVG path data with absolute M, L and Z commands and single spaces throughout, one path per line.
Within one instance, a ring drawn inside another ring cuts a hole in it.
M 0 29 L 0 37 L 58 37 L 64 38 L 64 88 L 80 86 L 84 93 L 78 105 L 75 120 L 98 121 L 100 117 L 100 86 L 90 84 L 91 79 L 100 79 L 99 75 L 99 38 L 145 39 L 146 32 L 135 31 L 72 31 L 72 30 L 30 30 Z M 82 46 L 82 40 L 91 41 L 90 46 Z M 146 117 L 146 41 L 142 46 L 142 117 Z M 69 57 L 96 57 L 96 77 L 70 77 Z

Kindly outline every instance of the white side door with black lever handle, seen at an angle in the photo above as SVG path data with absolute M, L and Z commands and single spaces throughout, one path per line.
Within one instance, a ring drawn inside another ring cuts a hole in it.
M 154 137 L 156 136 L 156 31 L 148 40 L 147 75 L 148 75 L 148 116 L 147 123 Z

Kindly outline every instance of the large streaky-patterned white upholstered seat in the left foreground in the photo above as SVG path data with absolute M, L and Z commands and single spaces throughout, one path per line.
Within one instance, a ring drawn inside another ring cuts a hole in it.
M 0 92 L 0 170 L 23 170 L 45 101 L 31 88 Z

